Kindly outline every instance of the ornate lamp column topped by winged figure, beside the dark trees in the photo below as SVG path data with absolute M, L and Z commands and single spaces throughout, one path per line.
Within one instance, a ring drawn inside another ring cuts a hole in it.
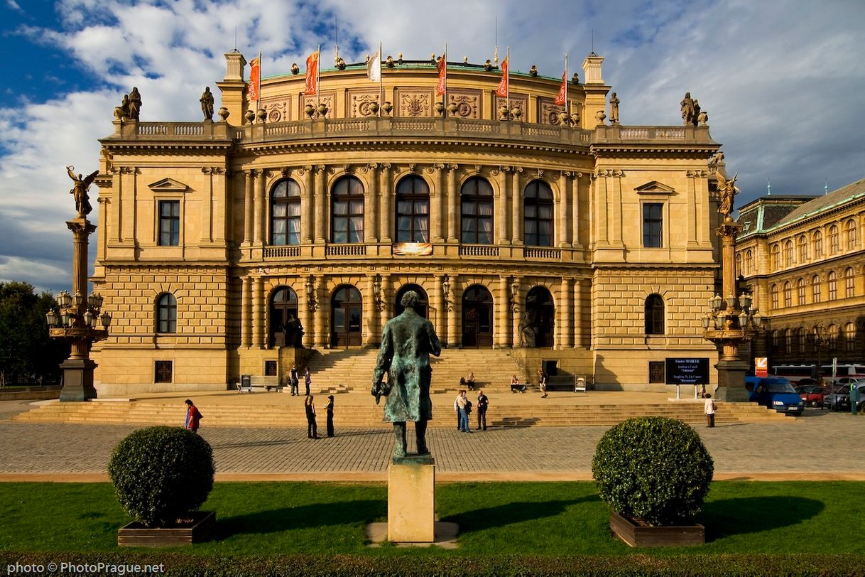
M 96 363 L 90 360 L 90 347 L 93 343 L 108 337 L 108 327 L 111 325 L 111 315 L 102 309 L 102 297 L 93 292 L 85 297 L 87 292 L 87 237 L 96 230 L 96 226 L 87 220 L 91 211 L 87 189 L 99 170 L 82 177 L 75 176 L 72 166 L 67 166 L 69 177 L 75 185 L 70 191 L 75 197 L 75 208 L 78 215 L 67 221 L 67 227 L 72 231 L 72 291 L 69 294 L 62 291 L 57 295 L 59 313 L 48 311 L 45 318 L 48 322 L 48 335 L 69 341 L 72 352 L 66 361 L 61 363 L 63 369 L 63 388 L 61 401 L 87 401 L 96 398 L 93 388 L 93 369 Z

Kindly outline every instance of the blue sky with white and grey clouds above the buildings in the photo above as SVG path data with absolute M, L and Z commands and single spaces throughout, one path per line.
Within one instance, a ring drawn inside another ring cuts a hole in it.
M 623 125 L 679 125 L 683 94 L 700 100 L 741 206 L 770 179 L 772 194 L 819 195 L 865 177 L 863 23 L 861 0 L 0 0 L 0 280 L 68 287 L 65 166 L 98 167 L 133 86 L 145 121 L 199 119 L 205 86 L 218 107 L 235 34 L 265 75 L 318 43 L 330 63 L 336 30 L 349 62 L 379 42 L 408 59 L 447 42 L 450 60 L 483 62 L 497 42 L 512 69 L 557 76 L 567 53 L 582 77 L 594 49 Z

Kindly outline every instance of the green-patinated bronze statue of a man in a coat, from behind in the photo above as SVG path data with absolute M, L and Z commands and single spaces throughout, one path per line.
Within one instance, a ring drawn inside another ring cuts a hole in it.
M 432 419 L 430 400 L 430 354 L 441 354 L 441 343 L 426 318 L 414 307 L 420 295 L 408 291 L 400 304 L 405 311 L 384 325 L 381 349 L 373 371 L 372 394 L 378 403 L 381 396 L 387 397 L 384 419 L 394 423 L 394 458 L 406 456 L 406 421 L 414 421 L 418 454 L 429 453 L 426 446 L 426 421 Z M 387 373 L 388 381 L 383 382 Z

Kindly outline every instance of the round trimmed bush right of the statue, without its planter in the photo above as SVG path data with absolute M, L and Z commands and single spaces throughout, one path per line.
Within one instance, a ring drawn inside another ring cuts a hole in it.
M 714 462 L 680 420 L 638 417 L 613 426 L 592 458 L 598 495 L 619 515 L 648 525 L 688 523 L 700 512 Z

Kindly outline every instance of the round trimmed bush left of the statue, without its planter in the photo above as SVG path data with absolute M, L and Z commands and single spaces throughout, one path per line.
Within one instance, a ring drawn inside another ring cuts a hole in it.
M 131 433 L 108 462 L 120 504 L 144 527 L 163 527 L 198 510 L 213 489 L 214 471 L 208 442 L 179 426 Z

